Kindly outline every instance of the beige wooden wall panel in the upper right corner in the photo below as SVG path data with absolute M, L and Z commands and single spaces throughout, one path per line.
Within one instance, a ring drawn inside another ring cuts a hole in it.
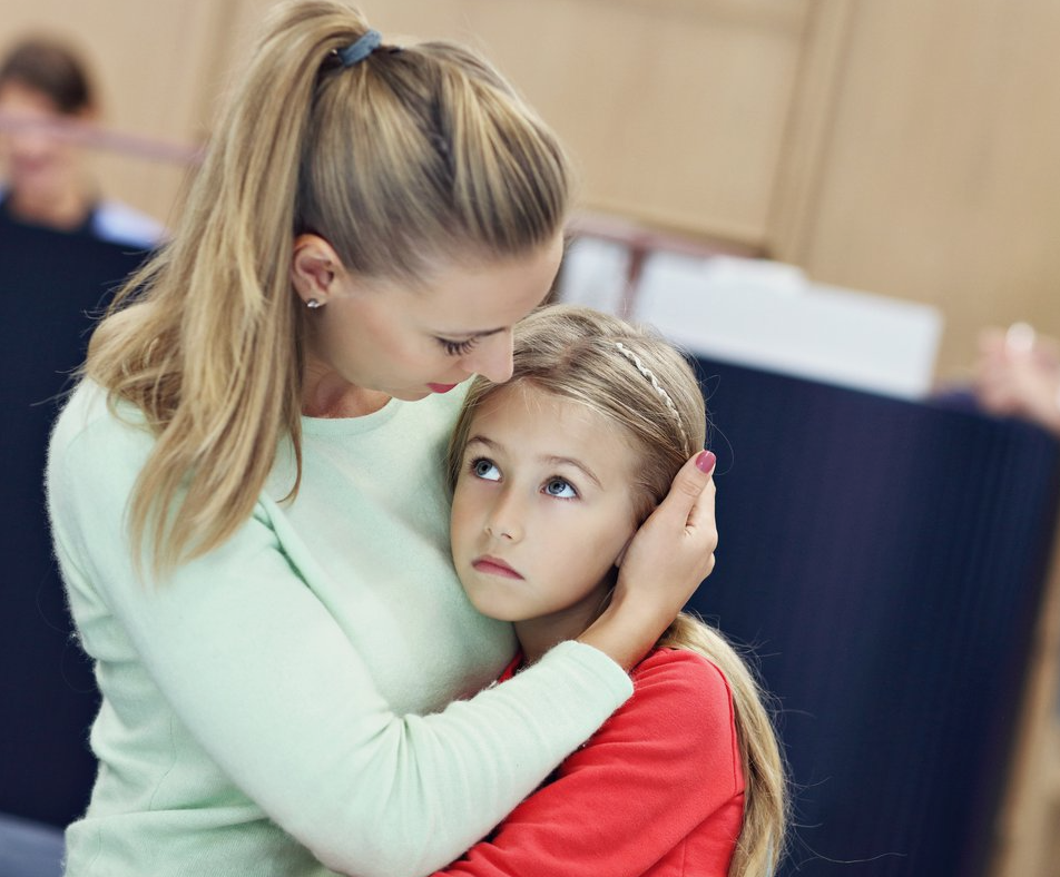
M 816 203 L 781 255 L 940 306 L 944 376 L 985 325 L 1060 333 L 1060 4 L 854 6 Z

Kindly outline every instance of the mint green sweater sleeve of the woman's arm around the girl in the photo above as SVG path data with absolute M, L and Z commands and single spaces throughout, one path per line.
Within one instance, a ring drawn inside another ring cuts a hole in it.
M 136 428 L 62 423 L 52 441 L 49 509 L 79 624 L 120 630 L 202 749 L 327 867 L 411 877 L 443 866 L 629 696 L 618 664 L 570 642 L 438 715 L 394 715 L 285 554 L 267 504 L 167 580 L 138 578 L 125 514 L 149 446 Z

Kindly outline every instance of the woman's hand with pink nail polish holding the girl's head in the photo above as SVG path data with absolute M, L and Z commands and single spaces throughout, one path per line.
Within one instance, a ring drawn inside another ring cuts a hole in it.
M 714 464 L 709 451 L 685 463 L 629 543 L 610 604 L 578 638 L 627 670 L 655 646 L 714 570 Z

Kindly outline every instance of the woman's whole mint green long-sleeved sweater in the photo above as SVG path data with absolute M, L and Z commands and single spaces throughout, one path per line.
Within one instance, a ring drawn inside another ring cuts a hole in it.
M 425 874 L 629 696 L 573 642 L 489 687 L 513 638 L 450 565 L 441 457 L 459 395 L 305 420 L 297 500 L 278 502 L 282 454 L 236 535 L 144 583 L 125 513 L 151 436 L 94 384 L 76 391 L 48 505 L 104 700 L 68 877 Z

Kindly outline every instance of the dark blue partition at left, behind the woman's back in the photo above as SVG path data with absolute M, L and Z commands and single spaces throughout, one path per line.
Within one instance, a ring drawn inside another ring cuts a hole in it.
M 97 694 L 52 562 L 46 446 L 89 314 L 143 256 L 88 235 L 0 223 L 0 812 L 55 825 L 88 801 Z

